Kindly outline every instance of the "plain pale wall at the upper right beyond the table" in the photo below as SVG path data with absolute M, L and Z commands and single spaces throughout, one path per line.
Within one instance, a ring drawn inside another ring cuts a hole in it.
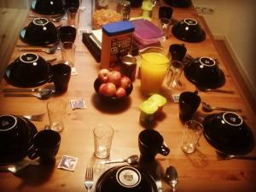
M 202 15 L 215 38 L 223 39 L 252 94 L 256 97 L 256 1 L 192 0 L 194 5 L 213 7 Z

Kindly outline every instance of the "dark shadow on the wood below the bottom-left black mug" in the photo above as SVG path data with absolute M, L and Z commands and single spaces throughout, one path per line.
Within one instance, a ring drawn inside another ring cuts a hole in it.
M 20 180 L 22 180 L 19 189 L 22 190 L 26 186 L 38 186 L 47 183 L 54 170 L 55 165 L 28 166 L 16 175 L 16 177 L 20 177 Z

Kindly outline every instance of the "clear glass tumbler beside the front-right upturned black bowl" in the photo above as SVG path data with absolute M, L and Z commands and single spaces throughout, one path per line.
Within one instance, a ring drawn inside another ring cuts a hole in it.
M 185 154 L 192 154 L 198 145 L 203 132 L 203 125 L 196 120 L 185 122 L 181 149 Z

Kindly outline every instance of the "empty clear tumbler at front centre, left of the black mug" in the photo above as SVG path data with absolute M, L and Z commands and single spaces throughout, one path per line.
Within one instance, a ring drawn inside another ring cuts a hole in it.
M 94 154 L 100 159 L 107 158 L 110 154 L 113 140 L 113 128 L 111 125 L 99 124 L 93 131 L 94 134 Z

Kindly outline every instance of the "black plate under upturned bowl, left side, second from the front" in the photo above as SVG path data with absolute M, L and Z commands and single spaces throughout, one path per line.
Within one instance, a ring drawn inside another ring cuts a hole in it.
M 23 81 L 14 79 L 12 75 L 12 67 L 14 66 L 14 63 L 9 64 L 9 66 L 5 69 L 4 73 L 4 79 L 9 83 L 14 85 L 15 87 L 37 87 L 42 84 L 46 84 L 49 82 L 49 79 L 51 78 L 51 74 L 49 72 L 48 75 L 45 76 L 44 79 L 40 79 L 38 81 Z

